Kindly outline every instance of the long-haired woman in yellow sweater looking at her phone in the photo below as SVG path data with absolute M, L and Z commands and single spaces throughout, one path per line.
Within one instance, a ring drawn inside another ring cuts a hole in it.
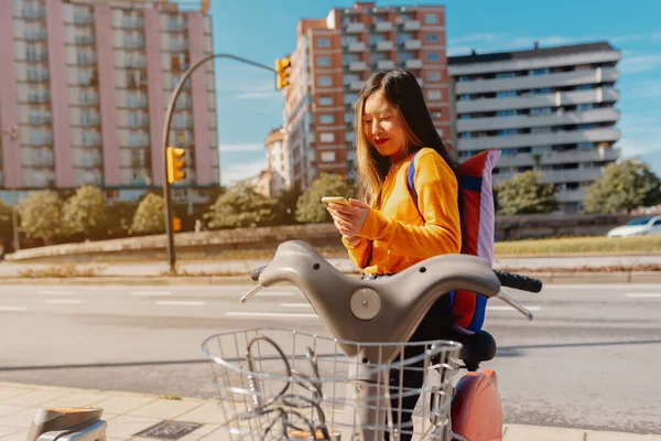
M 342 240 L 364 278 L 379 279 L 441 254 L 460 252 L 457 180 L 449 150 L 436 131 L 418 80 L 408 71 L 379 72 L 362 87 L 356 105 L 358 191 L 350 207 L 329 204 Z M 415 154 L 418 206 L 407 186 Z M 449 295 L 423 319 L 411 341 L 441 338 L 452 327 Z M 407 349 L 404 357 L 418 355 Z M 405 370 L 403 387 L 422 387 L 423 374 Z M 391 373 L 399 386 L 399 372 Z M 411 439 L 418 395 L 402 399 L 401 440 Z M 393 409 L 399 399 L 393 398 Z M 408 410 L 408 411 L 405 411 Z M 397 417 L 397 413 L 394 416 Z

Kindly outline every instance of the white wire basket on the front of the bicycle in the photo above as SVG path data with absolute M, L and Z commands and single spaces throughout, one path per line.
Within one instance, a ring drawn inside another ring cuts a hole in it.
M 397 346 L 400 356 L 366 365 L 338 343 L 356 353 Z M 460 347 L 449 341 L 340 342 L 277 327 L 221 333 L 203 343 L 228 440 L 429 439 L 448 423 Z

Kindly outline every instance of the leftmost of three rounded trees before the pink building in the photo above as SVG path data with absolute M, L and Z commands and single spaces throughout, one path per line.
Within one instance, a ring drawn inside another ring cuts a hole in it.
M 21 230 L 25 236 L 54 243 L 62 234 L 62 200 L 57 193 L 45 190 L 33 192 L 19 203 Z

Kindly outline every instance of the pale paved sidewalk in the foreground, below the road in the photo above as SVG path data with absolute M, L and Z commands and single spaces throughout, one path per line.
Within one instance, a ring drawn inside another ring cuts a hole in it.
M 109 441 L 153 441 L 136 433 L 164 420 L 201 424 L 178 441 L 230 440 L 215 400 L 0 383 L 0 441 L 24 441 L 39 408 L 73 406 L 102 408 Z M 506 424 L 503 441 L 661 441 L 661 435 Z

